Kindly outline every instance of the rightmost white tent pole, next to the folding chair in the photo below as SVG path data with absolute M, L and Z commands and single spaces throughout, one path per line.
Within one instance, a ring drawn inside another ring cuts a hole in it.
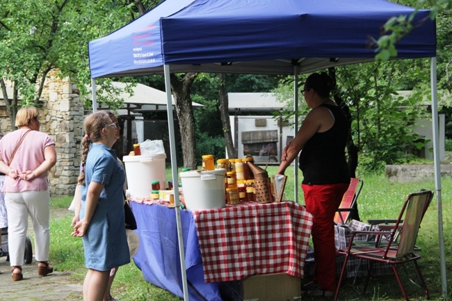
M 447 298 L 446 283 L 446 256 L 444 254 L 444 232 L 442 225 L 442 200 L 441 200 L 441 163 L 439 156 L 439 121 L 438 121 L 438 96 L 437 96 L 437 76 L 436 57 L 430 58 L 430 86 L 432 89 L 432 122 L 433 122 L 433 158 L 435 164 L 435 190 L 438 213 L 438 240 L 439 240 L 439 261 L 441 265 L 441 284 L 443 298 Z

